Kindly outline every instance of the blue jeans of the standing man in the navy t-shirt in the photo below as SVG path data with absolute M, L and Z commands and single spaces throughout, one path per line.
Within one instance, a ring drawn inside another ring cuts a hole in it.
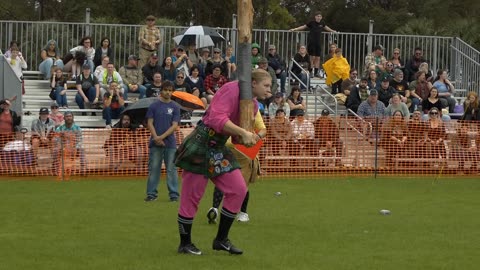
M 147 180 L 147 196 L 158 197 L 158 183 L 162 172 L 162 162 L 165 160 L 165 168 L 167 169 L 167 188 L 170 199 L 177 199 L 178 193 L 178 175 L 175 167 L 174 159 L 176 148 L 165 148 L 159 146 L 150 147 L 148 159 L 148 180 Z

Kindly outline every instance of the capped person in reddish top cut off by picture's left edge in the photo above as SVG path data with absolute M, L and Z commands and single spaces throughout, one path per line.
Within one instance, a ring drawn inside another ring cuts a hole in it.
M 11 105 L 8 99 L 0 100 L 0 147 L 13 140 L 13 132 L 20 129 L 21 117 L 10 109 Z

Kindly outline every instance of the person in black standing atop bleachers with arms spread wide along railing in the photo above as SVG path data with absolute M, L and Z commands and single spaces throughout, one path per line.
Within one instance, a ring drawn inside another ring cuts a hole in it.
M 309 29 L 310 33 L 308 35 L 308 42 L 307 42 L 307 48 L 308 48 L 308 54 L 310 55 L 310 60 L 311 66 L 312 66 L 312 76 L 320 76 L 320 56 L 322 55 L 322 48 L 321 48 L 321 42 L 322 42 L 322 32 L 327 31 L 327 32 L 335 32 L 335 30 L 332 30 L 330 27 L 328 27 L 325 23 L 325 21 L 322 19 L 322 14 L 320 11 L 317 11 L 314 13 L 315 19 L 308 22 L 307 24 L 304 24 L 302 26 L 299 26 L 297 28 L 292 28 L 290 31 L 301 31 L 305 29 Z

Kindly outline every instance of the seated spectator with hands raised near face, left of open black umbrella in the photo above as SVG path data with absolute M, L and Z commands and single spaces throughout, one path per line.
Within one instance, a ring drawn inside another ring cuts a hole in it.
M 125 99 L 123 98 L 120 86 L 112 82 L 108 91 L 103 95 L 103 119 L 107 127 L 112 126 L 112 119 L 118 119 L 125 109 Z

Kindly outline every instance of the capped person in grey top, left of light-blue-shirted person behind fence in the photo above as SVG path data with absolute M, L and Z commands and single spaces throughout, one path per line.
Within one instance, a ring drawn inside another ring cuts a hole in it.
M 30 128 L 32 132 L 31 143 L 35 156 L 37 156 L 39 147 L 50 146 L 53 137 L 55 122 L 48 117 L 48 114 L 48 108 L 42 107 L 40 108 L 38 119 L 32 121 Z

